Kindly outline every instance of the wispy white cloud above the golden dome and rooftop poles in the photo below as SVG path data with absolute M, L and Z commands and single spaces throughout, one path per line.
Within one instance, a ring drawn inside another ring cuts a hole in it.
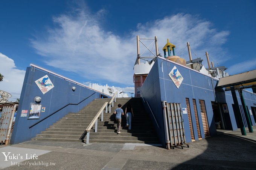
M 138 24 L 138 30 L 133 33 L 133 36 L 139 35 L 142 38 L 157 36 L 158 49 L 162 56 L 162 48 L 169 39 L 169 42 L 176 46 L 175 55 L 186 61 L 189 60 L 186 47 L 186 43 L 189 42 L 192 59 L 201 57 L 205 62 L 204 64 L 207 65 L 205 52 L 208 51 L 219 63 L 225 62 L 229 56 L 226 49 L 222 48 L 221 45 L 226 42 L 229 32 L 218 32 L 212 25 L 209 21 L 201 20 L 198 16 L 180 13 L 144 25 Z

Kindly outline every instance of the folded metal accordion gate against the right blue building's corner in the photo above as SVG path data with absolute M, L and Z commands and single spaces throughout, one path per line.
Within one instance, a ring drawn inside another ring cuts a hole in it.
M 189 147 L 185 140 L 180 103 L 166 103 L 166 113 L 168 120 L 170 147 L 174 149 L 174 147 L 181 146 L 183 149 L 183 144 L 186 144 L 187 147 Z

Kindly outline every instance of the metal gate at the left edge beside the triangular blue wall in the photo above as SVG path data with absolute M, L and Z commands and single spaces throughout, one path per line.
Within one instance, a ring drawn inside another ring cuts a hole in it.
M 8 144 L 17 105 L 4 106 L 0 117 L 0 144 Z

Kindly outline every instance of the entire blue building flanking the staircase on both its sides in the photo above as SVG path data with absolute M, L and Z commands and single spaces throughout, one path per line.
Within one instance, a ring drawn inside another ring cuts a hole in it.
M 208 70 L 205 69 L 201 60 L 193 63 L 190 59 L 192 64 L 187 64 L 175 56 L 174 48 L 171 43 L 163 48 L 164 51 L 168 50 L 169 58 L 160 57 L 157 53 L 151 62 L 140 63 L 146 68 L 145 72 L 138 69 L 139 65 L 134 66 L 136 96 L 142 97 L 163 146 L 171 140 L 168 140 L 167 131 L 170 129 L 166 124 L 165 113 L 169 103 L 178 104 L 183 138 L 186 138 L 187 143 L 216 135 L 217 129 L 237 130 L 242 129 L 242 126 L 255 126 L 255 93 L 247 90 L 239 90 L 239 93 L 237 90 L 227 91 L 226 86 L 217 87 L 219 77 L 225 77 L 226 73 L 222 71 L 223 74 L 217 75 L 218 68 L 217 72 L 213 72 L 210 69 L 214 67 L 210 66 Z M 140 57 L 138 50 L 137 61 Z M 78 112 L 95 98 L 109 97 L 43 68 L 34 65 L 27 67 L 11 143 L 30 140 L 67 113 Z M 40 104 L 37 100 L 44 102 Z

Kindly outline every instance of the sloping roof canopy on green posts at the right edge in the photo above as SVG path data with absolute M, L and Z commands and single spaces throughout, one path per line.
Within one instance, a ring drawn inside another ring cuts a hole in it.
M 230 87 L 232 86 L 235 87 L 235 89 L 256 87 L 256 69 L 236 75 L 230 75 L 228 77 L 222 77 L 219 79 L 216 88 L 225 87 L 226 90 L 230 90 Z

